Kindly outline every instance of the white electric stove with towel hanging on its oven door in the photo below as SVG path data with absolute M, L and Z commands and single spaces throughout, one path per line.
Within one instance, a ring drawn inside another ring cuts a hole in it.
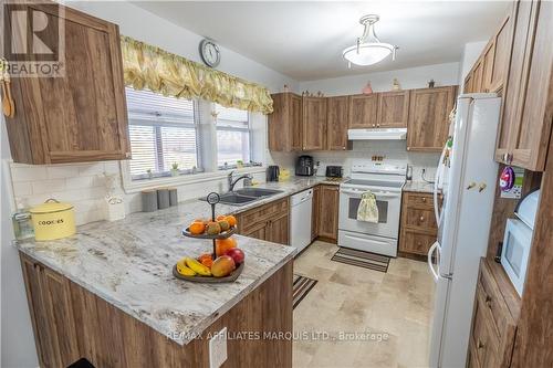
M 405 161 L 355 160 L 351 179 L 340 185 L 338 246 L 397 256 Z M 357 220 L 361 196 L 376 197 L 378 222 Z

